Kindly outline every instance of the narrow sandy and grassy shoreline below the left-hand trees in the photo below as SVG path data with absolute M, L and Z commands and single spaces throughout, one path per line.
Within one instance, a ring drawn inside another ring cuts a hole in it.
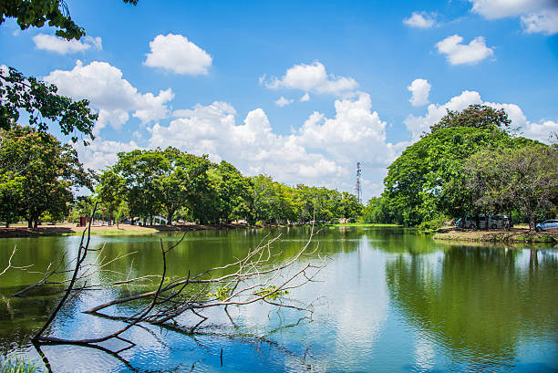
M 176 225 L 91 225 L 92 235 L 148 235 L 159 232 L 184 232 L 184 231 L 204 231 L 204 230 L 221 230 L 245 228 L 246 225 L 241 224 L 195 224 L 185 223 Z M 37 228 L 27 228 L 26 226 L 16 225 L 9 228 L 0 227 L 0 239 L 2 238 L 25 238 L 25 237 L 43 237 L 43 236 L 66 236 L 80 235 L 87 227 L 78 227 L 76 224 L 57 224 L 57 225 L 39 225 Z

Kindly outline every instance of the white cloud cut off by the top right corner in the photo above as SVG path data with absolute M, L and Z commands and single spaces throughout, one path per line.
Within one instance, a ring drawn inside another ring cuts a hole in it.
M 472 11 L 486 19 L 521 16 L 526 33 L 558 33 L 558 2 L 555 0 L 469 0 Z

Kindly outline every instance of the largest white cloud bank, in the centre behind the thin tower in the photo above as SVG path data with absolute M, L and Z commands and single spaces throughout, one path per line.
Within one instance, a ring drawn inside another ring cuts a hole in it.
M 155 124 L 148 129 L 149 145 L 206 153 L 212 161 L 230 161 L 248 175 L 266 173 L 278 181 L 346 191 L 353 189 L 356 161 L 364 161 L 373 183 L 381 183 L 403 145 L 386 141 L 386 122 L 372 111 L 367 94 L 337 99 L 335 107 L 334 118 L 315 112 L 300 129 L 284 136 L 274 133 L 263 109 L 250 111 L 243 124 L 237 124 L 233 107 L 215 101 L 177 110 L 181 118 L 169 126 Z

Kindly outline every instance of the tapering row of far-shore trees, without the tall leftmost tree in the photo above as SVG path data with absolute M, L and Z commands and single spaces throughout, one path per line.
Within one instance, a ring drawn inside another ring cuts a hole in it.
M 130 216 L 151 222 L 161 214 L 169 224 L 177 215 L 202 224 L 332 222 L 356 220 L 363 208 L 347 192 L 290 187 L 264 175 L 247 178 L 227 161 L 216 164 L 175 148 L 119 153 L 101 174 L 97 194 L 109 212 L 118 210 L 111 203 L 122 196 Z

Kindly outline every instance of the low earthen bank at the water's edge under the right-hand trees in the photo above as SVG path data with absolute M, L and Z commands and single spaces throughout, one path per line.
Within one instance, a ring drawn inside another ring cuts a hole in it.
M 480 241 L 500 243 L 558 243 L 558 232 L 529 232 L 526 228 L 511 231 L 448 230 L 434 234 L 435 240 Z

